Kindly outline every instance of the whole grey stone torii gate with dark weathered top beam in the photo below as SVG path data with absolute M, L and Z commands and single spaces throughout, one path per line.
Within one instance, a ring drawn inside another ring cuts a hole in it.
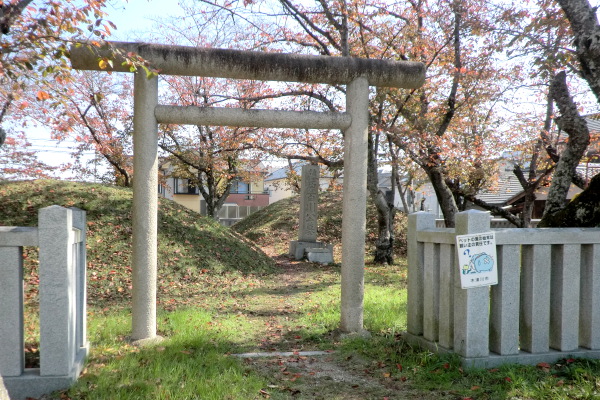
M 341 129 L 344 131 L 341 323 L 345 333 L 363 331 L 367 135 L 369 85 L 418 88 L 422 63 L 352 57 L 307 56 L 239 50 L 112 42 L 147 60 L 159 74 L 347 85 L 346 111 L 276 111 L 177 107 L 158 104 L 158 78 L 134 78 L 132 339 L 156 338 L 158 124 Z M 130 72 L 108 47 L 71 48 L 74 69 Z

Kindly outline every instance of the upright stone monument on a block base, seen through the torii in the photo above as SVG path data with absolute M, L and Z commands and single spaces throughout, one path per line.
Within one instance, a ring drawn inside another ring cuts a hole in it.
M 305 257 L 309 261 L 333 262 L 331 245 L 317 241 L 317 219 L 319 206 L 319 166 L 302 166 L 300 184 L 300 226 L 298 240 L 290 242 L 289 256 L 296 260 Z

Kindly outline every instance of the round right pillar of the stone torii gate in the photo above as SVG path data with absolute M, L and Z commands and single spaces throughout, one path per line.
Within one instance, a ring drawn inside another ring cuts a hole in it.
M 347 85 L 346 112 L 352 116 L 352 124 L 344 132 L 340 329 L 345 333 L 362 333 L 369 129 L 369 82 L 366 78 L 357 78 Z

